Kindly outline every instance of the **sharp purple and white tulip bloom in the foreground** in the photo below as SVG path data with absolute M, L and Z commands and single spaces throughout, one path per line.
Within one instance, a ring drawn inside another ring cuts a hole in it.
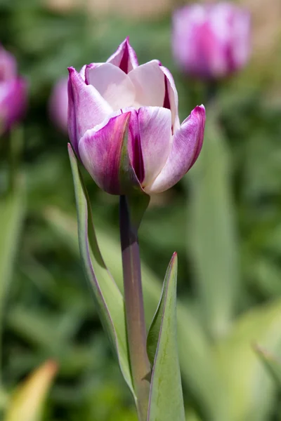
M 68 131 L 97 185 L 110 194 L 132 186 L 163 192 L 195 163 L 205 109 L 180 124 L 174 79 L 158 60 L 138 65 L 129 39 L 105 63 L 69 69 Z

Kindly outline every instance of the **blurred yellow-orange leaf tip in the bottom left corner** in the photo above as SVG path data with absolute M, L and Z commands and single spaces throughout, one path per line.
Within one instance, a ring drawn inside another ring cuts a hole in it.
M 46 361 L 15 390 L 4 421 L 40 421 L 46 394 L 58 367 Z

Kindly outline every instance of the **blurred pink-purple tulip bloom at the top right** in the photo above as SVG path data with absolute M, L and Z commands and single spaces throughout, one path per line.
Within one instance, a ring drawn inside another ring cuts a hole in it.
M 184 6 L 173 17 L 173 53 L 183 71 L 219 79 L 241 69 L 250 53 L 248 11 L 230 3 Z

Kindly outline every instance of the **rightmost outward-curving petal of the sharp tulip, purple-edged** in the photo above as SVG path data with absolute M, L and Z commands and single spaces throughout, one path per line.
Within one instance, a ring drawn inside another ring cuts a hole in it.
M 145 192 L 159 193 L 174 186 L 195 163 L 204 138 L 205 109 L 203 105 L 192 110 L 176 131 L 165 166 Z

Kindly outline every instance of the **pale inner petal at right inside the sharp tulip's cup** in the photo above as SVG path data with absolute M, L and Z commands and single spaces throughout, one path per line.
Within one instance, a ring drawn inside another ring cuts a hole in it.
M 163 107 L 165 81 L 158 60 L 136 67 L 129 73 L 129 78 L 136 88 L 136 107 Z

